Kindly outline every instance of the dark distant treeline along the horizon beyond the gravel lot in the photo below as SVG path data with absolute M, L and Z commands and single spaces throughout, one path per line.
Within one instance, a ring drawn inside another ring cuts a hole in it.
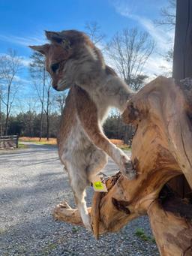
M 1 113 L 1 127 L 0 134 L 4 131 L 5 126 L 5 114 Z M 40 137 L 40 113 L 26 112 L 19 113 L 17 116 L 10 116 L 8 123 L 7 134 L 18 134 L 19 136 L 25 137 Z M 47 122 L 46 115 L 43 114 L 43 127 L 42 127 L 42 137 L 57 137 L 58 128 L 61 116 L 58 113 L 49 114 L 49 134 L 47 134 Z M 124 140 L 126 143 L 132 137 L 133 128 L 128 125 L 124 125 L 121 120 L 121 116 L 116 114 L 111 114 L 106 122 L 104 123 L 104 133 L 110 139 Z

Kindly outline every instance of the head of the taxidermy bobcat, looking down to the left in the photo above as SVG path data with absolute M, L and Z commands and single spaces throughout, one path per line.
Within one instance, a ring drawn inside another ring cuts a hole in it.
M 66 30 L 45 34 L 50 44 L 30 48 L 45 56 L 46 71 L 52 77 L 55 90 L 68 89 L 74 83 L 78 84 L 78 80 L 89 77 L 90 72 L 104 66 L 101 52 L 85 33 Z

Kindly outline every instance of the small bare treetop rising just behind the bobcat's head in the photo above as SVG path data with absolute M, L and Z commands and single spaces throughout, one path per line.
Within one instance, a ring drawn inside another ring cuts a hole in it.
M 101 26 L 97 22 L 86 23 L 86 34 L 89 35 L 94 44 L 99 44 L 105 38 L 105 35 L 101 32 Z

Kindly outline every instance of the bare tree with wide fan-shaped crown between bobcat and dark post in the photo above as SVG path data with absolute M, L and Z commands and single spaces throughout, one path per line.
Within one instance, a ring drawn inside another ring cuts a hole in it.
M 154 42 L 148 33 L 139 32 L 138 29 L 124 29 L 116 33 L 107 44 L 106 53 L 122 79 L 133 90 L 138 90 L 146 78 L 142 71 L 153 50 Z

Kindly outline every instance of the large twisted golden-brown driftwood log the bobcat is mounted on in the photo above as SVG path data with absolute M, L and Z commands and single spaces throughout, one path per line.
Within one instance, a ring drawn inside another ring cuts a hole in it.
M 121 173 L 107 180 L 108 192 L 94 194 L 89 212 L 93 233 L 115 232 L 133 218 L 148 215 L 160 255 L 192 255 L 192 85 L 158 77 L 127 105 L 124 122 L 136 126 L 132 163 L 137 179 Z M 186 198 L 168 182 L 184 176 Z M 82 224 L 77 209 L 56 206 L 55 218 Z

